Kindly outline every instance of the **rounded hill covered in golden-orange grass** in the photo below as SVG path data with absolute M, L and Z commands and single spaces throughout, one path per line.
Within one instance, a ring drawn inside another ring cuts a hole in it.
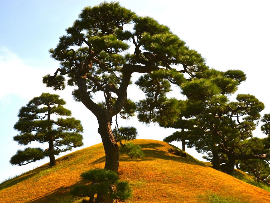
M 169 153 L 174 146 L 157 140 L 133 140 L 144 152 L 144 158 L 130 159 L 120 154 L 119 175 L 128 181 L 133 197 L 126 202 L 210 202 L 266 203 L 270 192 L 216 171 L 191 156 L 183 158 Z M 94 145 L 0 184 L 2 203 L 75 203 L 69 194 L 80 184 L 80 174 L 92 168 L 103 168 L 105 154 L 102 144 Z

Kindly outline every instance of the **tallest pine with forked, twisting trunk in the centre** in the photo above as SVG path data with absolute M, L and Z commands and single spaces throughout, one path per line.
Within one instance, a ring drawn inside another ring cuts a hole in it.
M 129 24 L 133 25 L 132 31 Z M 62 90 L 67 78 L 68 85 L 77 87 L 72 92 L 74 99 L 97 118 L 106 155 L 105 169 L 117 172 L 119 147 L 111 123 L 117 114 L 128 118 L 136 111 L 135 103 L 127 99 L 131 74 L 145 73 L 136 84 L 143 91 L 154 92 L 146 101 L 149 106 L 140 102 L 139 116 L 144 121 L 145 116 L 152 119 L 161 109 L 173 108 L 163 106 L 171 83 L 179 86 L 185 81 L 184 73 L 193 76 L 208 67 L 201 55 L 185 46 L 166 25 L 137 16 L 116 2 L 84 8 L 66 31 L 56 48 L 49 50 L 61 68 L 44 76 L 43 83 Z M 177 65 L 183 69 L 176 70 Z M 98 92 L 104 96 L 103 101 L 96 102 Z M 151 113 L 144 114 L 148 110 Z

